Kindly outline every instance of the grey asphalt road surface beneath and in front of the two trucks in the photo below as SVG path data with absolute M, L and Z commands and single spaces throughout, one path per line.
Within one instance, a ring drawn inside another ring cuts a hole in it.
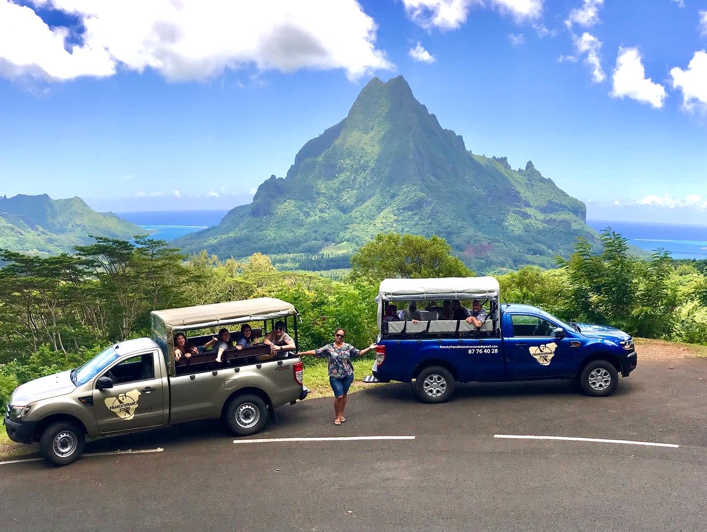
M 609 398 L 571 383 L 465 384 L 425 405 L 409 386 L 277 410 L 234 444 L 218 423 L 93 441 L 64 468 L 0 465 L 3 526 L 23 530 L 699 529 L 707 509 L 707 359 L 640 362 Z M 570 436 L 677 447 L 507 439 Z M 159 449 L 162 449 L 159 451 Z

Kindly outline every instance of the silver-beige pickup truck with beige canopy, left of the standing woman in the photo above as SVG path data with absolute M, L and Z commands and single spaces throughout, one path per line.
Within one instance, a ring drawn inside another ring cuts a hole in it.
M 8 436 L 23 444 L 38 441 L 49 462 L 66 465 L 81 456 L 86 436 L 218 418 L 234 434 L 255 434 L 274 408 L 307 396 L 296 349 L 272 353 L 276 348 L 255 343 L 229 347 L 221 362 L 213 351 L 177 362 L 174 335 L 249 323 L 257 337 L 281 321 L 296 344 L 297 318 L 290 303 L 272 298 L 153 311 L 152 338 L 119 342 L 79 368 L 19 386 L 4 417 Z M 230 340 L 236 335 L 231 332 Z M 204 345 L 212 336 L 188 340 Z

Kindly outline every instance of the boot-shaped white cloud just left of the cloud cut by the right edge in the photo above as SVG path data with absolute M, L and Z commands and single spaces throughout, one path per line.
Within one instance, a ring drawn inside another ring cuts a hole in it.
M 667 98 L 665 88 L 660 83 L 653 83 L 645 77 L 638 48 L 619 48 L 612 82 L 613 88 L 609 95 L 614 98 L 627 96 L 642 103 L 649 103 L 654 108 L 661 108 L 663 100 Z

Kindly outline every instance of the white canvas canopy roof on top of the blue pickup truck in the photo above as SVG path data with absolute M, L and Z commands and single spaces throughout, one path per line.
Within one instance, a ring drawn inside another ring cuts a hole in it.
M 383 301 L 498 297 L 498 281 L 495 277 L 383 279 L 378 296 Z

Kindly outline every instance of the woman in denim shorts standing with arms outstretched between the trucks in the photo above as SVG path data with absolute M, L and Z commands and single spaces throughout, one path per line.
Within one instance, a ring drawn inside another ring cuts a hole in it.
M 337 329 L 334 333 L 334 342 L 319 349 L 301 351 L 301 355 L 314 355 L 315 357 L 326 358 L 329 361 L 329 384 L 334 391 L 334 424 L 340 425 L 346 421 L 344 408 L 346 408 L 346 394 L 349 393 L 349 386 L 354 382 L 354 366 L 351 364 L 351 357 L 361 357 L 371 349 L 375 349 L 375 344 L 371 344 L 366 349 L 356 349 L 351 344 L 344 343 L 346 331 Z

